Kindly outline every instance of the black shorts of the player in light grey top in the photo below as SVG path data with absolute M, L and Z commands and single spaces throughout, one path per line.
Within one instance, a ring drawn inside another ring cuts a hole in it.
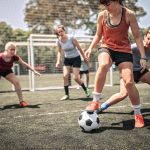
M 81 57 L 77 56 L 74 58 L 64 58 L 64 66 L 80 68 L 81 67 Z

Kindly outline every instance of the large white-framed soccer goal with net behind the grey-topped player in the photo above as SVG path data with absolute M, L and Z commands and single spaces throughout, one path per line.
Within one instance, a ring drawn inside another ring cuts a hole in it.
M 76 36 L 81 46 L 89 46 L 93 36 Z M 63 75 L 62 66 L 60 69 L 55 67 L 57 59 L 56 35 L 31 34 L 28 39 L 28 51 L 30 56 L 30 64 L 38 70 L 42 76 L 35 77 L 31 72 L 31 91 L 62 89 Z M 95 73 L 98 67 L 97 58 L 89 62 L 90 70 L 90 87 L 93 87 Z M 72 75 L 71 75 L 72 76 Z M 107 75 L 106 86 L 113 86 L 113 70 L 110 69 Z M 76 88 L 78 85 L 71 78 L 70 88 Z

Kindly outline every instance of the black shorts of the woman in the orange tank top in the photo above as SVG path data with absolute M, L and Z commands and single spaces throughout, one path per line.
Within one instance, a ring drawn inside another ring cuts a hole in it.
M 98 51 L 99 53 L 107 52 L 110 55 L 112 61 L 115 62 L 116 66 L 118 66 L 122 62 L 133 63 L 133 56 L 130 53 L 117 52 L 108 48 L 99 48 Z

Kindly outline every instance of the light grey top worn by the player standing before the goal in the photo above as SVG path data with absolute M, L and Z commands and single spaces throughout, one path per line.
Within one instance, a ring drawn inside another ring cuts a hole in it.
M 68 35 L 66 42 L 62 42 L 59 39 L 56 41 L 57 46 L 64 51 L 65 58 L 74 58 L 80 55 L 78 49 L 73 44 L 73 39 L 73 36 Z

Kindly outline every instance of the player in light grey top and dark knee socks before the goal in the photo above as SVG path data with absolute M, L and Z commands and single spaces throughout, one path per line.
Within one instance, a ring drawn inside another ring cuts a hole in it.
M 69 74 L 71 68 L 74 75 L 74 80 L 83 88 L 86 96 L 89 97 L 89 90 L 79 77 L 79 71 L 81 67 L 80 55 L 83 57 L 84 61 L 87 62 L 79 42 L 73 36 L 65 33 L 65 28 L 63 25 L 58 26 L 55 30 L 55 33 L 58 36 L 58 55 L 56 67 L 60 67 L 62 53 L 64 53 L 63 79 L 65 95 L 61 98 L 61 100 L 69 99 Z

